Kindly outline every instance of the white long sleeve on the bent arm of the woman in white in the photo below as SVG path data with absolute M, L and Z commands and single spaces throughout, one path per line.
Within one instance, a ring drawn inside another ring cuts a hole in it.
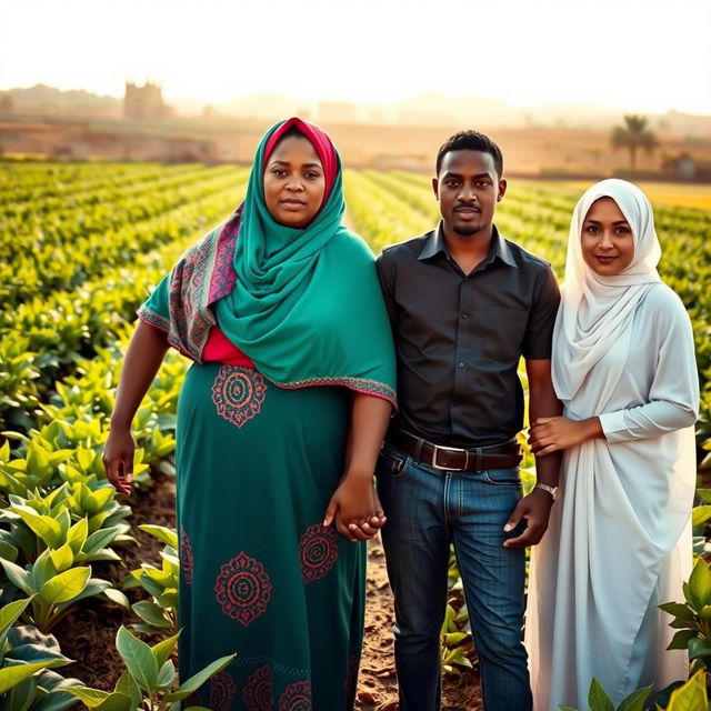
M 661 314 L 663 322 L 655 329 L 660 339 L 659 357 L 649 401 L 600 415 L 609 442 L 660 437 L 697 421 L 699 374 L 691 322 L 681 302 L 672 311 Z

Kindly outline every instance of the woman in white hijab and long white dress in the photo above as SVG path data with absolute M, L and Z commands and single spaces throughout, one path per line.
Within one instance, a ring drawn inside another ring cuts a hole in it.
M 699 381 L 689 317 L 659 278 L 644 193 L 590 188 L 573 212 L 553 333 L 563 417 L 537 420 L 539 455 L 565 450 L 559 502 L 532 553 L 527 647 L 535 711 L 588 709 L 593 677 L 615 705 L 685 679 L 665 651 L 691 572 Z

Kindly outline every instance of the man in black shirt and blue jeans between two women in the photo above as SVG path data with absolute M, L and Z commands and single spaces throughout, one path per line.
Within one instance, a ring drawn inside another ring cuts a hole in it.
M 387 248 L 378 273 L 395 340 L 400 412 L 378 461 L 395 600 L 401 711 L 440 709 L 440 628 L 450 543 L 464 584 L 487 711 L 527 711 L 524 548 L 538 543 L 560 459 L 537 461 L 521 495 L 517 374 L 529 418 L 561 413 L 550 374 L 560 293 L 550 266 L 501 237 L 502 158 L 474 131 L 440 149 L 432 180 L 442 221 Z

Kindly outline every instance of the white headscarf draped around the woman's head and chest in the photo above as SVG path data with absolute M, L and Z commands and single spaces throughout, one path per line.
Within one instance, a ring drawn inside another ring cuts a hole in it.
M 612 198 L 632 229 L 634 258 L 614 277 L 595 273 L 582 257 L 582 226 L 600 198 Z M 565 280 L 553 330 L 553 385 L 563 402 L 575 398 L 590 370 L 614 341 L 630 341 L 634 310 L 647 291 L 661 281 L 657 271 L 660 257 L 652 207 L 637 186 L 611 178 L 583 193 L 570 222 Z M 623 367 L 620 363 L 618 372 L 607 371 L 604 382 L 588 383 L 597 391 L 595 400 L 605 401 L 605 395 L 614 391 Z

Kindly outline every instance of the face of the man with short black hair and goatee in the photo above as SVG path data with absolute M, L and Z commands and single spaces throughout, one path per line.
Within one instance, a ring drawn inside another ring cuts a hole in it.
M 444 229 L 467 237 L 491 226 L 507 181 L 499 180 L 490 153 L 459 150 L 445 153 L 432 188 L 440 203 Z

